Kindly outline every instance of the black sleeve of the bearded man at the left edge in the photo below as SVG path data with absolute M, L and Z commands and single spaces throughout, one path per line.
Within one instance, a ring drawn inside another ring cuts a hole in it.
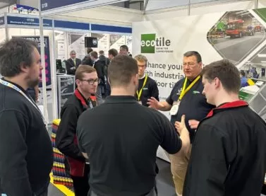
M 8 196 L 33 195 L 25 160 L 28 123 L 19 111 L 0 113 L 0 183 Z

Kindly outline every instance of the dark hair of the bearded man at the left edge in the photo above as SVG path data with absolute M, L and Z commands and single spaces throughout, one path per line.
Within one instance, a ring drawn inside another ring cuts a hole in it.
M 24 38 L 12 38 L 0 46 L 0 74 L 13 77 L 20 74 L 20 66 L 30 67 L 33 63 L 32 52 L 37 43 Z

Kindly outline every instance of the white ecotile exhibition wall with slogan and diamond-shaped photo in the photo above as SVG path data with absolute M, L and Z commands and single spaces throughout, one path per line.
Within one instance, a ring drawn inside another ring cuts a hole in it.
M 230 38 L 224 26 L 240 18 L 243 28 L 239 28 L 239 32 L 243 33 L 248 25 L 258 26 L 260 30 L 255 35 Z M 258 12 L 224 11 L 133 23 L 133 56 L 144 54 L 147 57 L 146 73 L 157 81 L 159 98 L 165 100 L 174 84 L 183 78 L 185 52 L 200 52 L 203 64 L 226 58 L 237 67 L 243 67 L 258 56 L 258 51 L 265 49 L 265 22 L 266 8 Z M 164 114 L 169 117 L 169 112 Z M 157 156 L 168 161 L 162 149 Z

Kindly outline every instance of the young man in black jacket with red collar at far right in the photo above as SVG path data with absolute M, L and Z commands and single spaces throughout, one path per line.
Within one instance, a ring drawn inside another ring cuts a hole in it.
M 198 125 L 184 196 L 260 195 L 266 172 L 266 124 L 238 99 L 238 69 L 223 59 L 202 70 L 202 93 L 216 105 Z

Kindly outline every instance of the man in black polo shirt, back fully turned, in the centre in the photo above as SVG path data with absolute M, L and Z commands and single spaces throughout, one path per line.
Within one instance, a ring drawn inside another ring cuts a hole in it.
M 90 160 L 90 195 L 155 195 L 158 146 L 180 156 L 189 149 L 188 131 L 179 138 L 167 117 L 138 104 L 135 59 L 114 57 L 108 72 L 111 96 L 78 120 L 78 144 Z

